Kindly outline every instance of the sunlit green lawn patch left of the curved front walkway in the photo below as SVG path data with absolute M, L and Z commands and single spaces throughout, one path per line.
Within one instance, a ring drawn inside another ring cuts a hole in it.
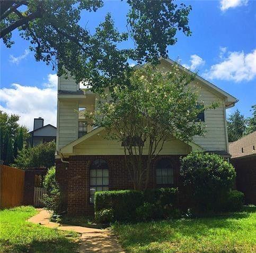
M 76 252 L 78 235 L 26 221 L 37 214 L 33 207 L 0 211 L 0 252 Z

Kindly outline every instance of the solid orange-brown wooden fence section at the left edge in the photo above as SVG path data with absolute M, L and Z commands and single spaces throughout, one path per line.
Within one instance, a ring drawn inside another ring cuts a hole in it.
M 23 203 L 25 172 L 19 168 L 0 165 L 0 208 Z

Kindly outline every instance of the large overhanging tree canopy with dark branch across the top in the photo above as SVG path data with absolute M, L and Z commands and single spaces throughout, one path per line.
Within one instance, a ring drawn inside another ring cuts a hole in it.
M 1 3 L 0 38 L 10 48 L 12 32 L 30 41 L 37 61 L 45 61 L 58 75 L 69 73 L 76 81 L 100 89 L 129 82 L 128 59 L 157 62 L 167 57 L 167 45 L 177 41 L 176 33 L 189 36 L 191 6 L 174 0 L 127 0 L 127 31 L 119 33 L 110 14 L 91 33 L 79 24 L 83 11 L 96 11 L 102 0 L 10 0 Z M 118 44 L 131 38 L 134 48 Z

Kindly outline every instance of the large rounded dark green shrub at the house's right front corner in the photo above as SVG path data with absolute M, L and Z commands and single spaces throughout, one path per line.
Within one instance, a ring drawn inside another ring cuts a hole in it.
M 223 209 L 219 200 L 225 198 L 235 179 L 231 164 L 216 154 L 190 153 L 181 158 L 180 174 L 183 184 L 189 188 L 192 208 L 198 212 Z

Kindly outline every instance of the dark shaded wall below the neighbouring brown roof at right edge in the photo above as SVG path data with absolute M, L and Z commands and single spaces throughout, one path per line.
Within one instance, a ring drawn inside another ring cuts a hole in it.
M 245 194 L 247 204 L 256 204 L 256 157 L 231 159 L 236 170 L 236 189 Z

